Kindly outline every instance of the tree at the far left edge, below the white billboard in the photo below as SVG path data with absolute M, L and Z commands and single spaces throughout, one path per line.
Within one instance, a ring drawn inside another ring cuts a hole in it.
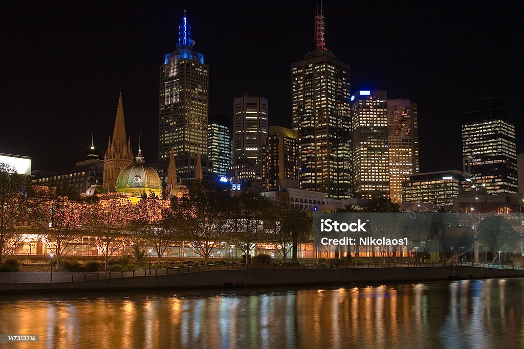
M 17 174 L 14 168 L 0 163 L 0 265 L 4 257 L 24 242 L 19 228 L 30 221 L 31 199 L 25 195 L 31 185 L 29 176 Z

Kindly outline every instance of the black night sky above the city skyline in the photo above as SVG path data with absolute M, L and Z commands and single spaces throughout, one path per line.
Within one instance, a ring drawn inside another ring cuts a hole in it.
M 506 99 L 524 151 L 524 29 L 519 1 L 324 0 L 326 47 L 351 64 L 352 91 L 418 102 L 421 171 L 460 168 L 460 112 Z M 94 132 L 105 152 L 122 88 L 127 133 L 157 162 L 159 65 L 187 9 L 210 66 L 210 115 L 243 92 L 290 126 L 290 64 L 314 47 L 314 0 L 2 2 L 0 152 L 32 168 L 74 166 Z

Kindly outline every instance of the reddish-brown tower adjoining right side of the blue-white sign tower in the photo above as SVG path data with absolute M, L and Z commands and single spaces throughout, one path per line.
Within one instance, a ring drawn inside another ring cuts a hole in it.
M 417 103 L 388 99 L 389 197 L 402 202 L 402 182 L 419 172 Z

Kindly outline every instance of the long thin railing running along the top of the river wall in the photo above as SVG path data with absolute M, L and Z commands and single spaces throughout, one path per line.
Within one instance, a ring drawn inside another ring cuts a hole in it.
M 474 262 L 428 262 L 428 263 L 414 263 L 414 262 L 399 262 L 399 263 L 366 263 L 361 265 L 354 265 L 350 263 L 321 263 L 321 264 L 298 264 L 298 265 L 256 265 L 252 264 L 246 267 L 240 264 L 210 264 L 210 265 L 190 265 L 180 266 L 174 268 L 152 268 L 152 269 L 137 269 L 132 271 L 114 271 L 114 272 L 93 272 L 83 274 L 71 274 L 72 282 L 82 282 L 91 280 L 103 279 L 117 279 L 124 277 L 144 277 L 144 276 L 158 276 L 158 275 L 172 275 L 172 274 L 188 274 L 210 272 L 218 270 L 285 270 L 285 269 L 340 269 L 340 268 L 420 268 L 420 267 L 450 267 L 450 266 L 472 266 L 494 269 L 514 269 L 524 271 L 524 266 L 510 265 L 510 264 L 490 264 L 490 263 L 474 263 Z

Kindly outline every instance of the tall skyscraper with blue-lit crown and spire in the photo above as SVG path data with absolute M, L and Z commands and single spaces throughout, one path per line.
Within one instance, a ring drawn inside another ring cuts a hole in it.
M 209 67 L 194 52 L 187 17 L 179 26 L 177 49 L 160 65 L 158 170 L 167 179 L 171 149 L 178 178 L 194 178 L 196 158 L 208 154 Z

